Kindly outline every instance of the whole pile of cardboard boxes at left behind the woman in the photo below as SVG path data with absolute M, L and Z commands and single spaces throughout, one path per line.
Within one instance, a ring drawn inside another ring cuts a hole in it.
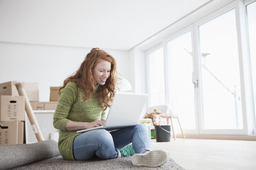
M 25 143 L 25 97 L 19 96 L 15 84 L 0 84 L 0 145 Z M 33 110 L 55 110 L 58 88 L 51 87 L 50 101 L 39 101 L 39 84 L 22 83 Z

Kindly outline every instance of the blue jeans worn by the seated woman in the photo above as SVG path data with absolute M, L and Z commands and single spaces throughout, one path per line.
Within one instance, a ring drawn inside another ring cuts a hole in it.
M 98 129 L 84 132 L 74 138 L 73 153 L 76 160 L 118 158 L 118 149 L 132 143 L 136 154 L 151 151 L 147 127 L 138 124 L 108 132 Z

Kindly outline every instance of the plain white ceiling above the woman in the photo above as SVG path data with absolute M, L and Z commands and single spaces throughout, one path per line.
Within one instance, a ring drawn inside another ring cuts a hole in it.
M 129 50 L 210 0 L 0 0 L 0 42 Z

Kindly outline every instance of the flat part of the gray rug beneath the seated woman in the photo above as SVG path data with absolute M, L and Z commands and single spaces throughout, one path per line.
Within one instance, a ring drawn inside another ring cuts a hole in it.
M 89 160 L 89 161 L 73 161 L 73 160 L 64 160 L 61 156 L 56 156 L 47 160 L 42 160 L 40 162 L 34 162 L 30 165 L 25 165 L 23 167 L 15 168 L 17 170 L 21 169 L 90 169 L 90 170 L 102 170 L 102 169 L 171 169 L 171 170 L 184 170 L 180 167 L 174 160 L 169 158 L 167 163 L 161 167 L 144 167 L 144 166 L 135 166 L 131 163 L 131 156 L 116 158 L 110 160 Z

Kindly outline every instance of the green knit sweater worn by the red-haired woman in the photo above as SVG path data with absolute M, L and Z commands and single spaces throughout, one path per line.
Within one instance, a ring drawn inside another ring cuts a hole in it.
M 76 131 L 65 130 L 68 121 L 92 122 L 105 118 L 99 99 L 94 95 L 83 100 L 81 88 L 78 88 L 74 82 L 68 82 L 65 88 L 61 90 L 61 97 L 54 113 L 54 127 L 59 130 L 58 149 L 61 156 L 67 160 L 74 160 L 73 141 L 79 135 Z

